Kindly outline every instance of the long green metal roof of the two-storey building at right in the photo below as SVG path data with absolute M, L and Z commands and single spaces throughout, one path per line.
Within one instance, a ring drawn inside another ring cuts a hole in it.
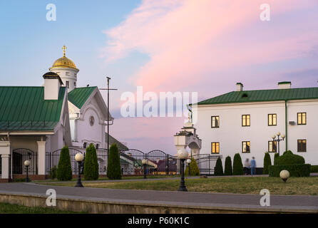
M 318 88 L 233 91 L 214 98 L 202 100 L 198 105 L 304 99 L 318 99 Z

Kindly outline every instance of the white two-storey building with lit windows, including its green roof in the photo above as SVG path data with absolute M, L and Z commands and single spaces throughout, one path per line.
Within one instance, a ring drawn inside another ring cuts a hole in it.
M 291 88 L 290 82 L 278 87 L 243 90 L 237 83 L 237 91 L 193 105 L 200 154 L 222 155 L 224 165 L 225 157 L 233 160 L 238 152 L 242 162 L 255 157 L 257 167 L 262 167 L 267 151 L 273 162 L 278 146 L 272 135 L 281 133 L 285 138 L 279 142 L 280 155 L 291 150 L 306 163 L 318 165 L 318 88 Z

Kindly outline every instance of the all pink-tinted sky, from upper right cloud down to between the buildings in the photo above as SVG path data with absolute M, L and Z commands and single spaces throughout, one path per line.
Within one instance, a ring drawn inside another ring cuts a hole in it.
M 271 21 L 260 21 L 264 3 L 270 4 Z M 246 89 L 275 88 L 289 73 L 317 68 L 317 6 L 314 0 L 144 0 L 104 31 L 103 53 L 106 64 L 133 51 L 149 56 L 127 77 L 132 91 L 143 86 L 144 92 L 197 91 L 199 98 L 210 98 L 234 90 L 239 81 Z M 183 119 L 119 118 L 112 131 L 130 147 L 171 151 Z

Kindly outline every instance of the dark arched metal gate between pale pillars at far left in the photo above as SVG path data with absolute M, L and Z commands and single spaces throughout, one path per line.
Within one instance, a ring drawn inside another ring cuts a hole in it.
M 25 174 L 24 161 L 29 160 L 29 174 L 38 174 L 38 154 L 26 148 L 12 150 L 12 174 Z

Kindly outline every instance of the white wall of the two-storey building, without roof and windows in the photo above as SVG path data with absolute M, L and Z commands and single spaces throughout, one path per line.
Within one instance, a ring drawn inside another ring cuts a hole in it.
M 288 100 L 285 113 L 284 101 L 225 103 L 199 105 L 193 107 L 197 133 L 202 140 L 201 154 L 212 153 L 212 142 L 220 142 L 220 155 L 224 165 L 225 157 L 233 160 L 239 152 L 242 162 L 255 157 L 257 167 L 263 167 L 265 152 L 272 135 L 277 132 L 285 134 L 281 141 L 280 155 L 287 149 L 304 157 L 305 162 L 318 165 L 318 100 Z M 197 113 L 198 111 L 198 113 Z M 307 113 L 306 125 L 297 125 L 297 113 Z M 268 114 L 277 114 L 277 125 L 268 125 Z M 287 121 L 285 118 L 287 114 Z M 242 126 L 242 115 L 250 115 L 250 126 Z M 211 117 L 219 116 L 220 127 L 211 127 Z M 294 121 L 294 123 L 289 123 Z M 287 123 L 287 126 L 286 126 Z M 287 128 L 287 132 L 286 132 Z M 297 152 L 297 140 L 307 140 L 306 152 Z M 250 153 L 242 152 L 242 142 L 250 141 Z M 287 148 L 286 148 L 287 142 Z M 270 152 L 272 162 L 275 152 Z

